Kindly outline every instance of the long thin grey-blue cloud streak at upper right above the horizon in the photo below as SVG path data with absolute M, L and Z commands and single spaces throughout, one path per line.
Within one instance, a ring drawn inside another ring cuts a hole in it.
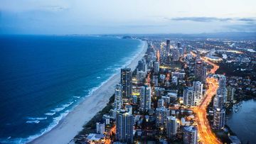
M 213 21 L 242 21 L 256 22 L 256 18 L 217 18 L 217 17 L 176 17 L 165 18 L 170 21 L 195 21 L 195 22 L 213 22 Z

